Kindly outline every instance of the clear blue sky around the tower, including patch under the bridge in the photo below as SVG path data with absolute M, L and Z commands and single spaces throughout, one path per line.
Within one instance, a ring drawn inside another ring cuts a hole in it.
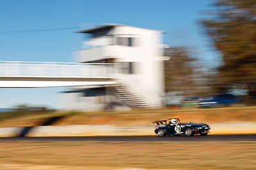
M 210 0 L 1 0 L 0 32 L 67 27 L 92 27 L 116 23 L 164 31 L 164 43 L 188 45 L 196 57 L 209 66 L 218 64 L 202 34 L 198 20 L 204 17 Z M 72 62 L 72 52 L 80 50 L 83 35 L 77 29 L 0 34 L 0 60 Z M 46 104 L 61 108 L 61 90 L 0 89 L 0 108 L 15 104 Z

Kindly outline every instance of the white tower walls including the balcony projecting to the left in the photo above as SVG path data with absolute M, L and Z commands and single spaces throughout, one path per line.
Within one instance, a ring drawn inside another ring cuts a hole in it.
M 95 47 L 75 53 L 77 62 L 115 58 L 118 62 L 136 62 L 136 74 L 116 74 L 145 96 L 162 104 L 164 96 L 162 32 L 130 26 L 116 26 L 108 32 L 115 36 L 136 38 L 136 46 L 108 45 L 106 39 L 90 39 Z M 98 43 L 98 45 L 97 45 Z

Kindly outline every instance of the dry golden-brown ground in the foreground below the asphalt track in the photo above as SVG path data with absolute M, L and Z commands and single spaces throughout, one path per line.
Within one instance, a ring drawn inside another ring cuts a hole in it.
M 0 169 L 256 169 L 255 142 L 0 141 Z

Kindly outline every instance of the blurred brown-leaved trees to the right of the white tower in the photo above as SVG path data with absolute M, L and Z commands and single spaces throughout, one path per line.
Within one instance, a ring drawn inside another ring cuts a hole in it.
M 200 22 L 204 35 L 221 53 L 221 65 L 202 70 L 191 50 L 184 46 L 165 49 L 166 92 L 183 96 L 247 92 L 247 103 L 256 103 L 256 1 L 212 0 L 211 10 Z

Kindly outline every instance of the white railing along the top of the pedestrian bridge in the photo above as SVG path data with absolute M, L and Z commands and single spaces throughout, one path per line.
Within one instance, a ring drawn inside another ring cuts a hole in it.
M 115 64 L 0 61 L 1 77 L 109 77 Z

